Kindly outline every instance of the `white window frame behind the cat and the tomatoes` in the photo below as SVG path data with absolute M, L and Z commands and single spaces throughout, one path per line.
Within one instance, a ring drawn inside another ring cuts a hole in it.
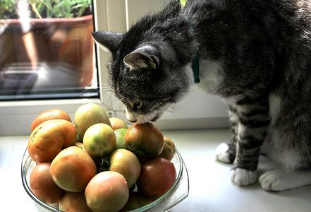
M 130 25 L 150 11 L 159 11 L 169 0 L 94 0 L 94 28 L 124 33 Z M 97 47 L 99 84 L 109 85 L 106 64 L 109 52 Z M 105 87 L 106 87 L 105 86 Z M 106 89 L 100 88 L 100 98 L 71 100 L 25 100 L 0 102 L 0 136 L 30 134 L 30 124 L 37 114 L 51 108 L 65 110 L 73 119 L 80 105 L 94 102 L 110 116 L 126 120 L 123 105 L 114 98 L 105 98 Z M 129 124 L 129 122 L 128 122 Z M 228 127 L 226 105 L 219 99 L 192 90 L 181 102 L 155 122 L 160 129 L 197 129 Z

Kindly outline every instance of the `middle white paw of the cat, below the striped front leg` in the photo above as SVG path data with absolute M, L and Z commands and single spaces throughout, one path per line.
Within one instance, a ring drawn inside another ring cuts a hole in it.
M 231 170 L 231 181 L 238 186 L 246 186 L 254 184 L 257 179 L 257 171 L 250 171 L 245 169 L 237 168 Z

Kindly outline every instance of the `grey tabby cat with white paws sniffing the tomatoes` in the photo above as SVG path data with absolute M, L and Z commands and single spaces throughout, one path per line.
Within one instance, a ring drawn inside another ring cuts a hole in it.
M 171 1 L 126 33 L 92 36 L 112 53 L 111 88 L 131 122 L 156 121 L 197 86 L 228 105 L 232 138 L 216 158 L 234 164 L 234 183 L 257 181 L 267 143 L 278 167 L 259 177 L 263 189 L 311 184 L 309 0 Z

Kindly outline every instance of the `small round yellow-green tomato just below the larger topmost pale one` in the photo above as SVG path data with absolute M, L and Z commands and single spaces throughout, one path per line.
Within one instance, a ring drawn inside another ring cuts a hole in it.
M 83 144 L 92 158 L 104 158 L 114 151 L 116 135 L 108 124 L 94 124 L 85 131 Z

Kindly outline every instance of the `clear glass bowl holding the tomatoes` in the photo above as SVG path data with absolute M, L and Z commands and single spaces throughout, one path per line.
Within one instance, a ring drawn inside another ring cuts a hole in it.
M 185 163 L 183 162 L 183 158 L 181 154 L 176 150 L 176 154 L 171 160 L 173 165 L 176 168 L 177 177 L 176 180 L 163 196 L 159 197 L 152 201 L 152 203 L 147 204 L 141 208 L 133 210 L 133 212 L 140 211 L 169 211 L 173 206 L 180 203 L 185 199 L 185 197 L 189 194 L 189 178 L 188 172 L 185 167 Z M 30 190 L 29 186 L 29 178 L 32 169 L 35 167 L 36 163 L 33 161 L 28 155 L 28 150 L 26 148 L 25 153 L 23 155 L 22 165 L 21 165 L 21 174 L 22 174 L 22 182 L 25 191 L 28 193 L 33 203 L 35 204 L 37 211 L 60 211 L 58 208 L 58 204 L 45 204 L 40 201 L 35 194 L 33 194 Z

